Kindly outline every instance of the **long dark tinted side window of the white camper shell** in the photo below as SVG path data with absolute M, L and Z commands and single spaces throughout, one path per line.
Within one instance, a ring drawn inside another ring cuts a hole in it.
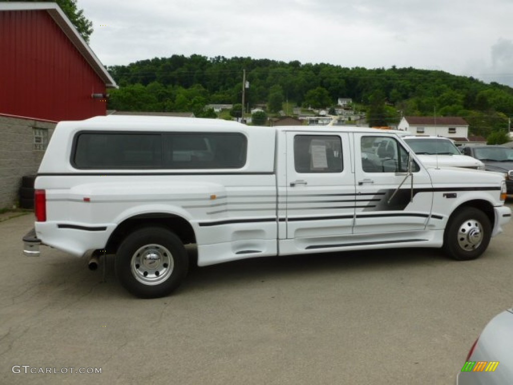
M 78 169 L 242 168 L 247 139 L 237 132 L 80 131 L 71 164 Z

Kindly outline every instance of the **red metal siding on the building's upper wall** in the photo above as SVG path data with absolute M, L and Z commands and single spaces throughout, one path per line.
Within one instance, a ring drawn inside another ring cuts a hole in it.
M 46 11 L 0 12 L 0 113 L 47 120 L 105 115 L 105 83 Z

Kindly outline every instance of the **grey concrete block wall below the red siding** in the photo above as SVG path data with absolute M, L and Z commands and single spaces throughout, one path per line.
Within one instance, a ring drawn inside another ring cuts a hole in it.
M 45 151 L 34 150 L 33 128 L 47 128 L 50 139 L 55 123 L 0 116 L 0 209 L 18 206 L 22 176 L 36 174 Z

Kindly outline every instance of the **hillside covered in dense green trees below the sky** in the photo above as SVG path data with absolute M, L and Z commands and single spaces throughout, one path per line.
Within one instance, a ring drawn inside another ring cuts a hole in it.
M 351 98 L 367 112 L 372 126 L 397 123 L 401 115 L 459 116 L 469 123 L 472 134 L 484 137 L 506 130 L 513 115 L 513 88 L 443 71 L 201 55 L 108 67 L 120 85 L 110 92 L 108 108 L 212 116 L 212 111 L 205 111 L 207 104 L 241 103 L 244 69 L 250 84 L 245 92 L 246 109 L 266 104 L 271 115 L 286 101 L 329 108 L 338 98 Z

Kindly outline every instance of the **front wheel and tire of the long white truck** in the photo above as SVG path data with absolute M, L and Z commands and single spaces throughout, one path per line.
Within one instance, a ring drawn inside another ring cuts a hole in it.
M 458 261 L 478 258 L 491 238 L 490 220 L 480 209 L 464 207 L 454 213 L 444 233 L 444 252 Z

